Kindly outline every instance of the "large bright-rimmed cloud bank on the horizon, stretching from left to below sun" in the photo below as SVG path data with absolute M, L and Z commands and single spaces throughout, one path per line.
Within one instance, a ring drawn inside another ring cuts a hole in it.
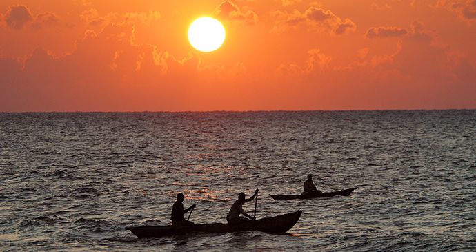
M 186 110 L 190 102 L 228 102 L 223 95 L 210 98 L 210 92 L 249 77 L 243 63 L 226 69 L 201 63 L 196 52 L 181 59 L 135 43 L 134 27 L 109 23 L 101 32 L 88 31 L 61 57 L 43 48 L 24 61 L 0 53 L 0 108 Z

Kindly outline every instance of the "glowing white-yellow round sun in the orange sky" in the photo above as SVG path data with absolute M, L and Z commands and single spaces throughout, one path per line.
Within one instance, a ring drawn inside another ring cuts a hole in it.
M 201 17 L 188 28 L 188 41 L 201 52 L 211 52 L 220 48 L 225 41 L 225 28 L 217 19 Z

